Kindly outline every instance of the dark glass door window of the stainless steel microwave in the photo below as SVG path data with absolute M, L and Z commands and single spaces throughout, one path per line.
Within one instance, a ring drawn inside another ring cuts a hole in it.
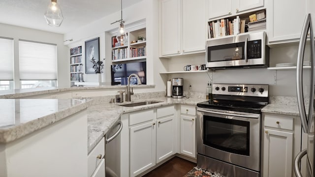
M 211 46 L 208 54 L 208 62 L 245 59 L 244 42 Z

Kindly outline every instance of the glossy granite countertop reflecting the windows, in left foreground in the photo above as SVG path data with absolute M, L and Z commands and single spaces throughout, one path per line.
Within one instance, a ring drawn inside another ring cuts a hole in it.
M 8 143 L 87 108 L 87 99 L 0 99 L 0 143 Z

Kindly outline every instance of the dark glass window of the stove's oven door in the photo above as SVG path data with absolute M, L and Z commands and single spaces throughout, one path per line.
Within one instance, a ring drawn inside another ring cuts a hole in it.
M 250 122 L 203 117 L 203 143 L 223 151 L 250 155 Z

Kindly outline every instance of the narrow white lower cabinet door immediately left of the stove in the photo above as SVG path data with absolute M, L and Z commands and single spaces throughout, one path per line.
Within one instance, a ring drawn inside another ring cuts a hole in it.
M 195 117 L 181 115 L 181 153 L 196 158 Z

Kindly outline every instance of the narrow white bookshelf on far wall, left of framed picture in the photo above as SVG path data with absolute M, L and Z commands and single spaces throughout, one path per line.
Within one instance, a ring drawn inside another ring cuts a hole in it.
M 82 46 L 70 49 L 70 86 L 74 82 L 83 82 Z

